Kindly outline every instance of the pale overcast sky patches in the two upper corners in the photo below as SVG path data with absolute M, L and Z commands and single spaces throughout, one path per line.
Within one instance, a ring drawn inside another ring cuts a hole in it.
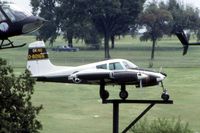
M 4 0 L 5 1 L 5 0 Z M 30 7 L 30 0 L 7 0 L 7 1 L 12 1 L 14 3 L 19 4 L 20 6 L 26 8 L 27 10 L 31 11 L 31 7 Z M 148 1 L 152 1 L 152 0 L 148 0 Z M 156 1 L 161 1 L 161 0 L 156 0 Z M 162 1 L 167 1 L 167 0 L 162 0 Z M 200 0 L 178 0 L 183 4 L 189 4 L 192 5 L 194 7 L 198 7 L 200 9 Z

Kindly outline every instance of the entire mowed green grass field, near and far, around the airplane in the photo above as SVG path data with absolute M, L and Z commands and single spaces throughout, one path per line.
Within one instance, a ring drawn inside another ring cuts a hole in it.
M 33 42 L 34 37 L 13 38 L 18 44 Z M 59 38 L 55 45 L 63 44 Z M 86 50 L 81 42 L 79 52 L 53 52 L 47 46 L 49 57 L 56 65 L 81 65 L 104 59 L 104 51 Z M 151 42 L 140 42 L 125 37 L 116 40 L 116 48 L 110 51 L 112 58 L 129 59 L 140 67 L 148 67 Z M 27 46 L 19 49 L 1 50 L 0 57 L 15 67 L 16 74 L 24 71 Z M 168 74 L 164 81 L 173 105 L 156 105 L 145 116 L 148 120 L 157 118 L 178 119 L 188 122 L 194 132 L 200 132 L 200 48 L 191 47 L 186 56 L 175 38 L 165 38 L 156 47 L 154 68 Z M 107 86 L 111 98 L 118 98 L 119 86 Z M 160 99 L 161 87 L 136 89 L 128 86 L 130 99 Z M 38 119 L 43 124 L 42 133 L 109 133 L 112 132 L 112 105 L 102 104 L 99 87 L 94 85 L 72 85 L 58 83 L 37 83 L 33 95 L 35 105 L 44 109 Z M 148 105 L 120 105 L 120 131 L 124 129 Z

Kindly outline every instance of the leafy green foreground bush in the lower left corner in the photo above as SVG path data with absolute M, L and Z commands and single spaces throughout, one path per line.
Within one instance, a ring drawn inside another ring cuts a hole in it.
M 1 133 L 38 133 L 42 128 L 36 119 L 42 106 L 33 106 L 31 102 L 34 83 L 27 70 L 16 77 L 13 69 L 0 58 Z

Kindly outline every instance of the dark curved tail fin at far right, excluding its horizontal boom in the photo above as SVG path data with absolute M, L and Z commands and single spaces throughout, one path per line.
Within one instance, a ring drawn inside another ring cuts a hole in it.
M 189 42 L 188 42 L 187 36 L 185 35 L 183 29 L 178 27 L 178 26 L 176 26 L 174 28 L 173 32 L 178 37 L 178 39 L 180 40 L 180 42 L 183 45 L 183 55 L 187 54 L 188 47 L 189 47 Z

